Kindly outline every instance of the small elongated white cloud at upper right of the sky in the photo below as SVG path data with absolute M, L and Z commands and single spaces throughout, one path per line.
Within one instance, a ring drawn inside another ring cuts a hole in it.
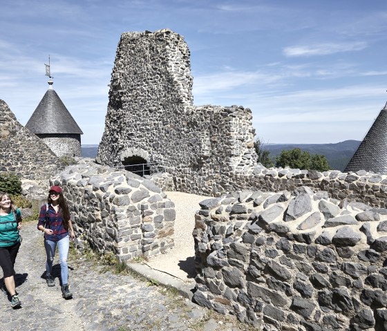
M 312 46 L 291 46 L 283 49 L 286 57 L 300 57 L 312 55 L 329 55 L 342 52 L 353 52 L 367 48 L 366 42 L 357 41 L 355 43 L 342 44 L 316 44 Z

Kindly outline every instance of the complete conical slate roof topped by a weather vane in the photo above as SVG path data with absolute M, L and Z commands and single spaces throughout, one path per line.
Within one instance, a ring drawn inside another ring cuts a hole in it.
M 50 84 L 51 83 L 51 84 Z M 73 133 L 83 134 L 79 129 L 77 122 L 68 112 L 66 106 L 60 100 L 57 93 L 51 88 L 52 82 L 49 82 L 48 88 L 41 102 L 39 102 L 34 113 L 26 124 L 26 128 L 35 134 L 47 133 Z

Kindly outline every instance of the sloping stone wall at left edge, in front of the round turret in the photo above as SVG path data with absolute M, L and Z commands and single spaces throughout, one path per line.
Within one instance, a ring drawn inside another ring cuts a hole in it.
M 63 164 L 44 142 L 24 128 L 0 100 L 0 172 L 12 171 L 22 178 L 47 180 Z

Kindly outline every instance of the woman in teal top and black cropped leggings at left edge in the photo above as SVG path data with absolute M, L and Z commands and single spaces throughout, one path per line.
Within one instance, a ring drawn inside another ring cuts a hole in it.
M 0 265 L 3 269 L 1 290 L 10 294 L 12 308 L 21 302 L 15 285 L 15 261 L 21 243 L 21 211 L 15 207 L 8 193 L 0 192 Z M 5 285 L 5 287 L 4 287 Z

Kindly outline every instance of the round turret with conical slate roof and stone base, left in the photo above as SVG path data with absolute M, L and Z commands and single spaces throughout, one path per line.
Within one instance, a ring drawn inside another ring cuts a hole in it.
M 51 79 L 48 85 L 26 128 L 41 138 L 58 157 L 80 157 L 83 132 L 54 91 Z

